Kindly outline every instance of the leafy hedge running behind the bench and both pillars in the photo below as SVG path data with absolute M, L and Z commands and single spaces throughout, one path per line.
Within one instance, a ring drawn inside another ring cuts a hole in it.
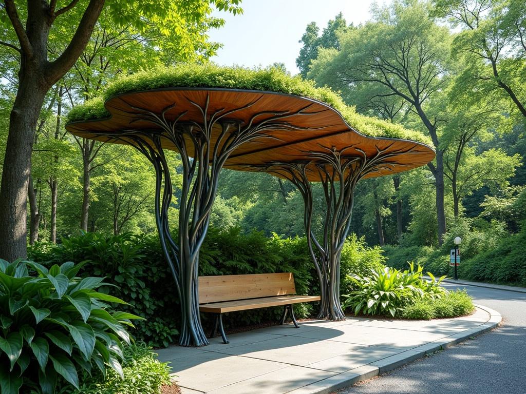
M 154 347 L 168 346 L 177 340 L 179 305 L 168 266 L 156 234 L 104 236 L 83 233 L 64 239 L 62 244 L 39 243 L 29 247 L 29 256 L 45 266 L 62 261 L 83 263 L 80 274 L 105 276 L 118 287 L 112 294 L 130 305 L 123 311 L 146 318 L 135 324 L 131 333 Z M 351 235 L 341 255 L 341 283 L 347 274 L 365 274 L 383 267 L 385 258 L 379 247 L 368 247 L 363 239 Z M 319 294 L 319 284 L 305 237 L 271 237 L 264 233 L 242 232 L 240 227 L 210 227 L 199 254 L 199 275 L 236 275 L 292 272 L 298 294 Z M 316 309 L 313 303 L 295 305 L 298 318 Z M 224 317 L 227 328 L 277 321 L 282 309 L 247 310 Z M 203 324 L 209 322 L 203 314 Z

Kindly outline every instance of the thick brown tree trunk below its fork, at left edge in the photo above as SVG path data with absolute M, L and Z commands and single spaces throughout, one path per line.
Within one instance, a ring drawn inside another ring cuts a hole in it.
M 20 71 L 18 92 L 9 119 L 0 189 L 0 258 L 27 257 L 27 189 L 35 128 L 48 86 L 36 70 Z

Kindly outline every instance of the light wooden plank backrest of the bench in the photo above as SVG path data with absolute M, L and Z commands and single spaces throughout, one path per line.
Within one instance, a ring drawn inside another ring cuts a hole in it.
M 199 304 L 296 294 L 291 272 L 199 276 Z

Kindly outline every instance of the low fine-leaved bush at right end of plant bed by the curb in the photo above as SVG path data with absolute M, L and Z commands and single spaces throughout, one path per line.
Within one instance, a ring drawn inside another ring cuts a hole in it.
M 444 294 L 441 298 L 422 298 L 407 306 L 402 316 L 407 319 L 437 319 L 466 316 L 473 313 L 473 301 L 466 290 Z

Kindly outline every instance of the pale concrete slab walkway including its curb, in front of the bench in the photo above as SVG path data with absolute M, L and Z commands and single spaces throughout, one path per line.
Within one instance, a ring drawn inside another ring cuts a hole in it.
M 313 394 L 370 379 L 500 324 L 484 306 L 467 317 L 310 320 L 214 338 L 203 348 L 158 350 L 170 362 L 183 394 Z

